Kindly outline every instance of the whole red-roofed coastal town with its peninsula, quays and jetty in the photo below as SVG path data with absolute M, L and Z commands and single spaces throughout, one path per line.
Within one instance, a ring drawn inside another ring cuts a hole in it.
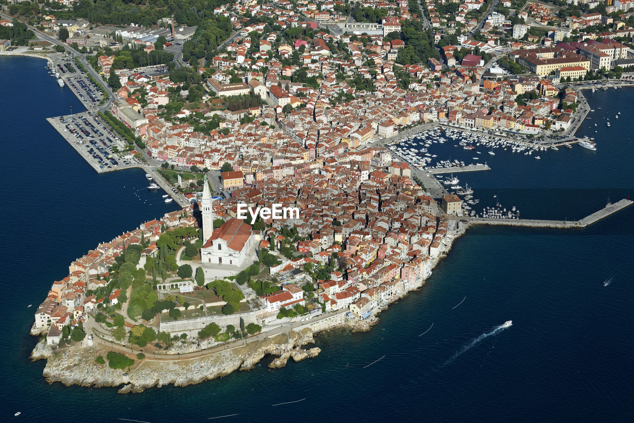
M 52 283 L 31 331 L 51 382 L 143 389 L 178 380 L 139 382 L 144 361 L 233 354 L 199 381 L 314 356 L 312 333 L 367 330 L 470 224 L 582 227 L 631 204 L 574 222 L 475 215 L 469 187 L 441 178 L 487 164 L 411 141 L 600 148 L 574 138 L 592 119 L 581 90 L 634 83 L 634 1 L 134 3 L 0 2 L 0 54 L 48 58 L 86 106 L 49 119 L 62 137 L 181 206 Z

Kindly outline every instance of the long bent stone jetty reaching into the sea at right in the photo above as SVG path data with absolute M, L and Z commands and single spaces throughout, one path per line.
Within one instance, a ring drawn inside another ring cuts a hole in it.
M 552 227 L 552 228 L 581 228 L 592 225 L 602 218 L 608 217 L 631 206 L 634 201 L 630 199 L 622 199 L 614 204 L 608 204 L 599 211 L 595 211 L 592 215 L 586 216 L 580 220 L 536 220 L 536 219 L 498 219 L 487 217 L 470 217 L 470 216 L 450 216 L 451 220 L 466 220 L 474 225 L 503 225 L 503 226 L 524 226 L 524 227 Z

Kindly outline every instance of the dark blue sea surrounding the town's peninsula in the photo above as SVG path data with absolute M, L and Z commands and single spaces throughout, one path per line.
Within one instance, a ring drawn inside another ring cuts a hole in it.
M 141 200 L 134 195 L 146 184 L 141 170 L 98 175 L 53 130 L 45 117 L 82 108 L 44 65 L 0 57 L 3 81 L 13 81 L 0 93 L 1 421 L 18 410 L 16 421 L 27 422 L 631 421 L 632 207 L 579 230 L 470 229 L 372 331 L 321 334 L 317 358 L 285 368 L 269 370 L 265 359 L 251 372 L 141 394 L 47 384 L 44 361 L 29 360 L 36 339 L 28 332 L 51 282 L 99 242 L 176 206 L 145 190 Z M 482 203 L 499 195 L 522 217 L 579 218 L 608 196 L 634 194 L 634 89 L 586 94 L 596 111 L 579 133 L 595 136 L 596 152 L 540 152 L 537 161 L 498 151 L 487 158 L 492 170 L 463 174 L 461 183 Z M 594 128 L 606 116 L 612 126 Z M 462 152 L 446 144 L 434 154 Z

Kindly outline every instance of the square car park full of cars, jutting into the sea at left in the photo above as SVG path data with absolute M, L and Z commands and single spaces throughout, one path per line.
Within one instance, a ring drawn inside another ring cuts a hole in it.
M 55 118 L 60 124 L 63 135 L 74 140 L 84 156 L 92 158 L 93 167 L 107 171 L 120 165 L 131 164 L 127 159 L 116 157 L 113 147 L 120 148 L 123 143 L 100 121 L 96 115 L 82 113 Z M 57 125 L 55 125 L 57 126 Z M 90 159 L 86 157 L 88 161 Z

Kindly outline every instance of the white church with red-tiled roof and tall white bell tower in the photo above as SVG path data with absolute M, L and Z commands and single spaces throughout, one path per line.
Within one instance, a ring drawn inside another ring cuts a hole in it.
M 206 180 L 200 207 L 205 241 L 200 250 L 201 262 L 241 267 L 247 256 L 255 251 L 258 241 L 250 225 L 231 218 L 214 231 L 213 200 Z

